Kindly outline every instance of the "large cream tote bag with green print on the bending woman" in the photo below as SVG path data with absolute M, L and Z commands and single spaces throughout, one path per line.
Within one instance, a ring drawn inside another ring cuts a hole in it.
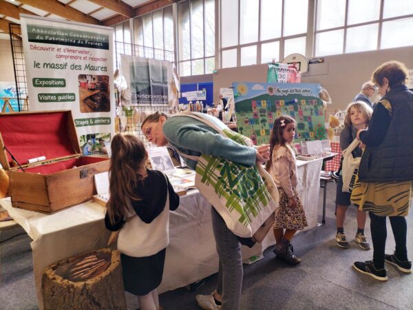
M 224 123 L 213 123 L 200 113 L 182 112 L 173 116 L 189 116 L 209 125 L 216 132 L 242 145 L 253 146 L 251 139 L 230 130 Z M 173 117 L 171 116 L 171 117 Z M 198 161 L 195 186 L 218 211 L 233 234 L 260 242 L 274 222 L 278 207 L 278 189 L 271 175 L 259 164 L 253 167 L 234 163 L 222 157 L 182 156 Z

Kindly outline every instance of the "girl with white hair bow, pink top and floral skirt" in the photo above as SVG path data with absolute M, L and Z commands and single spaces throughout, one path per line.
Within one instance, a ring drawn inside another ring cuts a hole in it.
M 308 226 L 304 207 L 297 194 L 297 163 L 291 143 L 295 136 L 295 121 L 290 116 L 275 118 L 270 136 L 270 158 L 266 169 L 273 176 L 279 192 L 279 208 L 275 211 L 274 236 L 277 258 L 290 265 L 301 260 L 293 254 L 290 241 L 297 230 Z

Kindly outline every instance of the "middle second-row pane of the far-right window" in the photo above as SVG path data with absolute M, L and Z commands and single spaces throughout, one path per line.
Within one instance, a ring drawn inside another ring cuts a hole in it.
M 346 53 L 376 50 L 378 32 L 378 23 L 347 28 Z

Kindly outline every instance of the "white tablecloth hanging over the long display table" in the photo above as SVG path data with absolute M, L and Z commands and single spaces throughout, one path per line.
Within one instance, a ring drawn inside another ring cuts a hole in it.
M 299 186 L 308 220 L 307 229 L 317 226 L 319 207 L 319 176 L 322 160 L 298 161 Z M 109 231 L 103 218 L 105 208 L 89 201 L 56 214 L 41 214 L 12 207 L 10 198 L 0 200 L 0 205 L 27 231 L 33 239 L 33 271 L 39 308 L 43 309 L 41 276 L 54 262 L 76 254 L 86 253 L 106 246 Z M 165 271 L 158 288 L 160 293 L 184 287 L 218 271 L 218 254 L 211 225 L 211 205 L 198 192 L 180 197 L 180 206 L 170 214 L 170 243 L 167 247 Z M 262 244 L 243 247 L 242 256 L 248 259 L 260 255 L 274 245 L 272 231 Z

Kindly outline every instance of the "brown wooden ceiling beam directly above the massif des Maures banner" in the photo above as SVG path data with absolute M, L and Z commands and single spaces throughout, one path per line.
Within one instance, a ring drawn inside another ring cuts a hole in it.
M 19 0 L 19 2 L 38 8 L 45 12 L 50 12 L 51 14 L 58 15 L 65 19 L 70 19 L 71 21 L 100 25 L 100 21 L 98 21 L 98 19 L 90 17 L 87 14 L 72 8 L 71 6 L 65 6 L 65 4 L 57 0 Z

